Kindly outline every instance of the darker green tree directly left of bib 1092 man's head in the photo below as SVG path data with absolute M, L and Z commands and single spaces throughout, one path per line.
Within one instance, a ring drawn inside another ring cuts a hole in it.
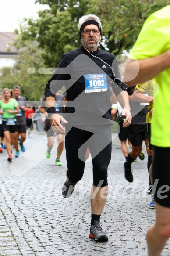
M 57 67 L 62 54 L 80 46 L 78 19 L 87 12 L 89 0 L 37 0 L 50 9 L 39 11 L 39 18 L 23 20 L 21 39 L 37 41 L 47 67 Z

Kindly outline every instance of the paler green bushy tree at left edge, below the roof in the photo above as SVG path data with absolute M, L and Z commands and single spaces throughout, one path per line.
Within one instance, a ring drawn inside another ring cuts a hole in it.
M 16 40 L 19 47 L 20 39 Z M 21 94 L 29 100 L 39 100 L 44 95 L 46 82 L 51 75 L 42 75 L 39 68 L 43 65 L 41 50 L 36 42 L 25 41 L 23 50 L 19 52 L 13 67 L 4 67 L 0 70 L 0 88 L 21 86 Z

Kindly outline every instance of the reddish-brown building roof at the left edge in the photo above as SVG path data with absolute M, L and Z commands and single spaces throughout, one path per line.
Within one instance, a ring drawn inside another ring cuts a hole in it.
M 17 54 L 17 50 L 11 47 L 11 50 L 7 50 L 7 46 L 16 37 L 14 32 L 0 32 L 0 54 Z

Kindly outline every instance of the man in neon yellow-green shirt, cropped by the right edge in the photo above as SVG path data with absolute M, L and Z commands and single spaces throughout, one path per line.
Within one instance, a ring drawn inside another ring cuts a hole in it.
M 125 67 L 130 86 L 153 78 L 158 84 L 151 124 L 156 222 L 147 232 L 147 243 L 149 256 L 160 256 L 170 237 L 170 5 L 147 18 Z

